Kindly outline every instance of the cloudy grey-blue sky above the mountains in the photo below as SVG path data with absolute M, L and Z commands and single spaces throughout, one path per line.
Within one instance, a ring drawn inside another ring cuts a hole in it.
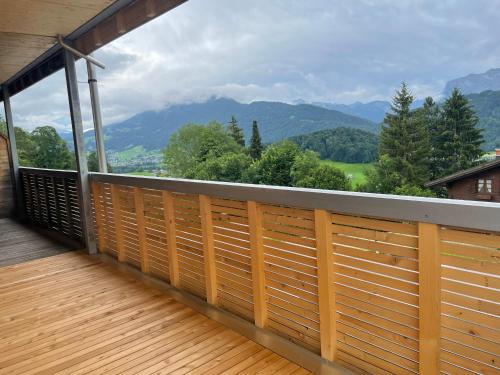
M 241 102 L 417 97 L 500 67 L 500 0 L 189 0 L 96 57 L 104 123 L 211 96 Z M 86 127 L 91 113 L 79 62 Z M 63 72 L 12 98 L 16 125 L 68 128 Z

